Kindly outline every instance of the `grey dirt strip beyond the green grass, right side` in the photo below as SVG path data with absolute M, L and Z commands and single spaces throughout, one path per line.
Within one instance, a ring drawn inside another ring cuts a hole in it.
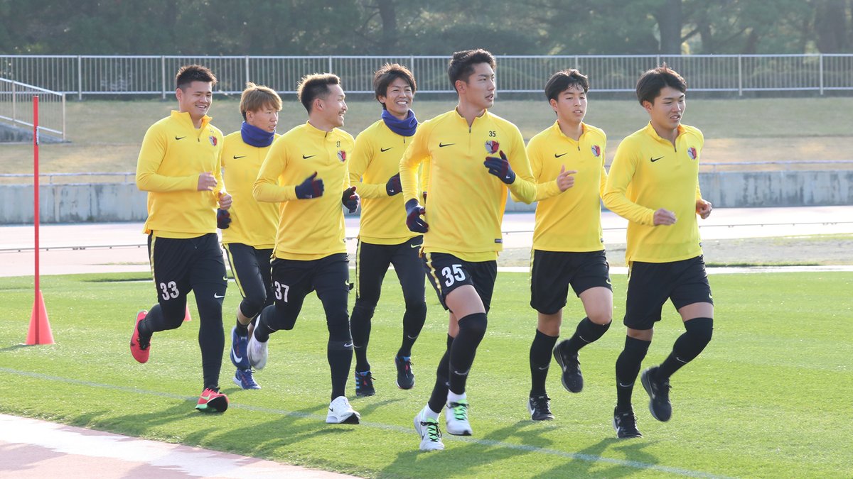
M 708 240 L 702 245 L 709 266 L 853 264 L 853 234 Z M 504 250 L 498 266 L 529 266 L 530 250 Z M 625 245 L 609 245 L 611 266 L 625 265 Z

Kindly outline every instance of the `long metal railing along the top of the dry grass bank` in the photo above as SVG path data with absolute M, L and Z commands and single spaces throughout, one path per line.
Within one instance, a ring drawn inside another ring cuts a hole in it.
M 666 62 L 688 78 L 692 91 L 743 95 L 752 91 L 853 91 L 853 55 L 498 55 L 500 90 L 540 93 L 551 73 L 574 67 L 589 75 L 595 91 L 632 92 L 640 73 Z M 421 93 L 452 91 L 446 56 L 184 56 L 0 55 L 0 77 L 66 94 L 165 95 L 178 67 L 209 66 L 216 91 L 238 94 L 247 81 L 293 94 L 299 78 L 334 72 L 348 93 L 371 93 L 373 73 L 396 61 L 409 66 Z

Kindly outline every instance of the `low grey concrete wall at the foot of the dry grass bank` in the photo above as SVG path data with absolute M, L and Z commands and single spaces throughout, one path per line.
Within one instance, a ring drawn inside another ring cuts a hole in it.
M 699 175 L 702 195 L 717 208 L 853 205 L 853 170 L 750 171 Z M 144 221 L 146 194 L 134 183 L 43 185 L 43 223 Z M 32 185 L 0 185 L 0 224 L 32 223 Z M 508 200 L 507 211 L 535 205 Z

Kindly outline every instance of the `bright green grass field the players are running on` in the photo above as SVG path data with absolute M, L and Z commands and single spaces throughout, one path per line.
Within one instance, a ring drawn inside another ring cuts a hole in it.
M 377 395 L 352 400 L 363 424 L 327 425 L 327 333 L 316 297 L 306 300 L 294 332 L 272 337 L 270 362 L 256 375 L 264 389 L 237 390 L 226 357 L 221 384 L 231 407 L 204 415 L 193 409 L 201 387 L 196 319 L 155 335 L 148 364 L 131 359 L 132 318 L 154 300 L 147 275 L 45 277 L 56 343 L 34 347 L 19 345 L 32 280 L 3 279 L 0 412 L 358 476 L 853 476 L 851 273 L 711 276 L 713 341 L 673 377 L 670 422 L 651 418 L 645 393 L 635 390 L 645 437 L 627 441 L 617 440 L 610 424 L 613 364 L 624 341 L 624 276 L 613 278 L 616 324 L 581 353 L 583 393 L 563 390 L 552 368 L 548 392 L 557 420 L 534 424 L 525 410 L 535 327 L 527 275 L 498 274 L 489 332 L 468 382 L 474 436 L 445 435 L 442 453 L 418 452 L 411 419 L 432 387 L 446 317 L 428 294 L 427 326 L 413 354 L 417 383 L 397 390 L 392 356 L 403 301 L 395 282 L 386 277 L 374 317 Z M 228 326 L 237 303 L 232 284 Z M 663 360 L 682 332 L 676 313 L 664 312 L 645 365 Z M 571 300 L 564 336 L 581 315 Z

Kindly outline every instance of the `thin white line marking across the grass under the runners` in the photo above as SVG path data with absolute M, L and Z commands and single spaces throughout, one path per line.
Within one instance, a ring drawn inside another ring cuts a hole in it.
M 197 398 L 194 396 L 176 395 L 176 394 L 164 393 L 164 392 L 160 392 L 160 391 L 140 390 L 140 389 L 131 388 L 128 386 L 116 386 L 113 384 L 94 383 L 92 381 L 83 381 L 80 379 L 61 378 L 59 376 L 51 376 L 49 374 L 43 374 L 41 372 L 18 371 L 16 369 L 9 369 L 7 367 L 0 367 L 0 372 L 6 372 L 9 374 L 15 374 L 18 376 L 25 376 L 28 378 L 44 379 L 44 380 L 49 380 L 49 381 L 58 381 L 61 383 L 66 383 L 66 384 L 90 386 L 93 388 L 100 388 L 100 389 L 106 389 L 106 390 L 119 390 L 119 391 L 124 391 L 124 392 L 135 393 L 135 394 L 154 395 L 154 396 L 158 396 L 158 397 L 164 397 L 167 399 L 175 399 L 178 401 L 191 401 L 191 402 L 197 401 Z M 318 421 L 325 421 L 325 419 L 326 419 L 325 414 L 320 415 L 320 414 L 312 414 L 312 413 L 298 413 L 298 412 L 293 412 L 293 411 L 285 411 L 283 409 L 272 409 L 272 408 L 268 408 L 268 407 L 257 407 L 257 406 L 251 406 L 251 405 L 246 405 L 246 404 L 234 404 L 234 403 L 232 403 L 229 405 L 229 408 L 241 409 L 244 411 L 252 411 L 252 412 L 256 412 L 256 413 L 272 413 L 272 414 L 278 414 L 281 416 L 290 416 L 290 417 L 295 417 L 295 418 L 316 419 Z M 393 432 L 401 432 L 404 434 L 412 434 L 414 437 L 413 430 L 409 427 L 397 426 L 397 425 L 392 425 L 392 424 L 373 423 L 373 422 L 369 422 L 369 421 L 362 421 L 360 425 L 365 426 L 365 427 L 369 427 L 369 428 L 374 428 L 374 429 L 388 430 L 388 431 L 393 431 Z M 717 478 L 728 479 L 727 476 L 717 476 L 715 474 L 702 472 L 699 470 L 688 470 L 688 469 L 682 469 L 679 467 L 670 467 L 670 466 L 666 466 L 666 465 L 654 465 L 654 464 L 648 464 L 648 463 L 644 463 L 644 462 L 640 462 L 640 461 L 632 461 L 632 460 L 626 460 L 626 459 L 612 459 L 612 458 L 606 458 L 606 457 L 602 457 L 602 456 L 596 456 L 594 454 L 569 453 L 566 451 L 559 451 L 556 449 L 549 449 L 549 448 L 545 448 L 545 447 L 526 446 L 524 444 L 513 444 L 513 443 L 509 443 L 509 442 L 492 441 L 489 439 L 475 439 L 472 437 L 450 436 L 450 435 L 444 436 L 444 439 L 450 440 L 450 441 L 464 441 L 464 442 L 469 442 L 469 443 L 473 443 L 473 444 L 478 444 L 481 446 L 504 447 L 507 449 L 514 449 L 516 451 L 525 451 L 527 453 L 541 453 L 541 454 L 547 454 L 549 456 L 557 456 L 557 457 L 567 458 L 567 459 L 578 459 L 578 460 L 583 460 L 583 461 L 591 462 L 591 463 L 605 463 L 605 464 L 610 464 L 610 465 L 620 465 L 620 466 L 624 466 L 624 467 L 630 467 L 632 469 L 654 470 L 654 471 L 659 471 L 659 472 L 665 472 L 667 474 L 676 474 L 678 476 L 709 477 L 709 478 L 715 478 L 715 479 L 717 479 Z M 415 442 L 416 441 L 413 439 L 412 440 L 413 447 L 415 446 Z

